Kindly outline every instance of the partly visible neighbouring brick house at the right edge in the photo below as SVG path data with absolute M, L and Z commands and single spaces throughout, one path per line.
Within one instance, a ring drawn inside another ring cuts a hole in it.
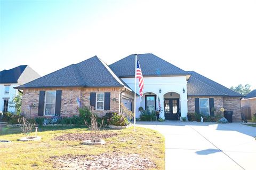
M 256 89 L 251 91 L 241 100 L 241 107 L 250 107 L 251 116 L 256 114 Z

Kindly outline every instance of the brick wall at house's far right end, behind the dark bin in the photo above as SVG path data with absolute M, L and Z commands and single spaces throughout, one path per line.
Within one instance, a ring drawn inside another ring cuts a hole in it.
M 223 108 L 233 111 L 233 122 L 241 121 L 240 98 L 223 97 Z

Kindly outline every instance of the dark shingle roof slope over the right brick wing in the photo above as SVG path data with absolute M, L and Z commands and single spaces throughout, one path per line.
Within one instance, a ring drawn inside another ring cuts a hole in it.
M 188 95 L 197 96 L 237 96 L 243 97 L 242 94 L 234 92 L 229 88 L 214 82 L 213 80 L 206 78 L 195 71 L 187 71 L 191 74 L 188 80 L 187 91 Z

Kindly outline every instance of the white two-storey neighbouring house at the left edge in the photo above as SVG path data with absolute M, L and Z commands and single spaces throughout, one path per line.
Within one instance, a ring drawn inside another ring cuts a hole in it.
M 28 83 L 40 75 L 27 65 L 18 66 L 10 70 L 0 72 L 0 109 L 1 111 L 14 112 L 15 108 L 10 107 L 10 102 L 18 94 L 13 87 Z

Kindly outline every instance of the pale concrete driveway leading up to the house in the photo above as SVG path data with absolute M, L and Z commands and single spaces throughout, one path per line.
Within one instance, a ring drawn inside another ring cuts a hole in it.
M 137 122 L 165 136 L 165 169 L 255 169 L 256 128 L 241 123 Z

